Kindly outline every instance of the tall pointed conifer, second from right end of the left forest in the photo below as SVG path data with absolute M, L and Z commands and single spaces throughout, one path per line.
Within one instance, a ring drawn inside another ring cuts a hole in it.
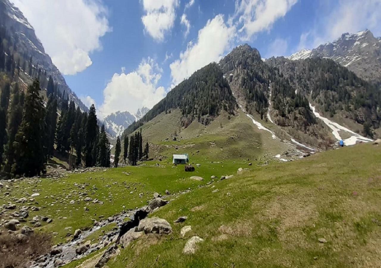
M 96 136 L 98 132 L 98 122 L 95 114 L 94 104 L 90 106 L 85 131 L 85 164 L 86 167 L 92 167 L 95 164 L 96 153 L 93 153 L 96 144 Z

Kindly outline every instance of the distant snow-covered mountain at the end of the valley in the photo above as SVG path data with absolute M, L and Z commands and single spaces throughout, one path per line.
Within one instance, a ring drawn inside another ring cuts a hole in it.
M 139 108 L 135 114 L 131 114 L 128 111 L 117 111 L 103 119 L 104 127 L 112 137 L 120 136 L 129 125 L 141 119 L 148 111 L 147 107 Z

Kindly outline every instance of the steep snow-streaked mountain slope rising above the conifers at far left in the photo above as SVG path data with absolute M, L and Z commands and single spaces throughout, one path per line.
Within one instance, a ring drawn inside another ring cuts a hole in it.
M 50 56 L 45 53 L 33 27 L 9 0 L 0 0 L 0 25 L 3 38 L 6 40 L 3 49 L 6 51 L 6 57 L 18 65 L 13 66 L 13 68 L 18 67 L 14 72 L 14 80 L 18 80 L 21 87 L 26 88 L 33 79 L 38 78 L 41 87 L 46 89 L 49 77 L 52 77 L 58 95 L 67 96 L 70 100 L 74 100 L 76 106 L 88 111 L 85 104 L 70 90 Z

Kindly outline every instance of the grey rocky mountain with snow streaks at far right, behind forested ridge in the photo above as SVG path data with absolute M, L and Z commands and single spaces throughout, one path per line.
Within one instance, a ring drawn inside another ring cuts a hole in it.
M 294 61 L 317 56 L 332 59 L 362 79 L 381 83 L 381 38 L 376 38 L 370 30 L 345 33 L 334 42 L 298 51 L 288 59 Z

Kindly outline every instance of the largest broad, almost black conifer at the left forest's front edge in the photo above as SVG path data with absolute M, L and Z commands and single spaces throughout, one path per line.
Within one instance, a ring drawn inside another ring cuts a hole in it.
M 14 175 L 29 177 L 45 171 L 44 136 L 45 108 L 39 94 L 40 83 L 34 80 L 28 87 L 25 98 L 21 125 L 15 136 L 15 161 L 12 167 Z

